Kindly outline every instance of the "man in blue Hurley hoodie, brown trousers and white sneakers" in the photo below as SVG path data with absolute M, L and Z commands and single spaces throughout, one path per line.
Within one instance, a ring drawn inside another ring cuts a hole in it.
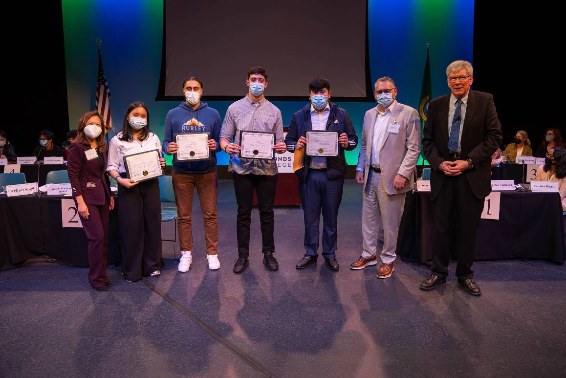
M 220 151 L 220 129 L 222 121 L 216 109 L 200 102 L 203 82 L 195 76 L 183 82 L 185 102 L 169 110 L 165 118 L 165 137 L 163 152 L 173 154 L 173 191 L 177 203 L 179 241 L 181 242 L 181 261 L 179 272 L 187 272 L 192 262 L 192 196 L 199 194 L 200 209 L 204 218 L 204 237 L 207 246 L 208 268 L 220 268 L 218 261 L 218 179 L 216 176 L 216 152 Z M 207 133 L 209 158 L 206 160 L 179 161 L 179 145 L 175 134 Z

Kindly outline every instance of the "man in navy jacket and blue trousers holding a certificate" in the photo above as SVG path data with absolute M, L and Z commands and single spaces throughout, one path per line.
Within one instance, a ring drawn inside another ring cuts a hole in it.
M 353 150 L 358 136 L 348 112 L 330 102 L 330 83 L 315 78 L 308 84 L 310 104 L 297 111 L 291 119 L 285 138 L 287 150 L 294 152 L 306 147 L 307 131 L 336 131 L 338 155 L 311 157 L 305 155 L 305 166 L 297 170 L 299 192 L 305 213 L 305 257 L 297 264 L 303 269 L 316 262 L 319 246 L 319 218 L 323 214 L 323 257 L 332 270 L 338 270 L 336 249 L 338 246 L 338 207 L 342 201 L 342 188 L 346 174 L 344 151 Z

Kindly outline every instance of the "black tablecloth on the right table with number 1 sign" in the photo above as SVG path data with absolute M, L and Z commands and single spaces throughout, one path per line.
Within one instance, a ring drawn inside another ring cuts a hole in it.
M 457 220 L 452 222 L 455 226 Z M 409 192 L 397 242 L 403 259 L 425 263 L 432 258 L 430 192 Z M 457 228 L 457 227 L 455 227 Z M 457 235 L 451 245 L 456 252 Z M 457 259 L 457 256 L 452 256 Z M 563 264 L 566 245 L 558 193 L 501 192 L 499 220 L 479 222 L 475 259 L 548 259 Z

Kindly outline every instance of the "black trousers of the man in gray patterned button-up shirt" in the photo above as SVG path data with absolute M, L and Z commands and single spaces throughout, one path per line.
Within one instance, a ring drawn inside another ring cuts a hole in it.
M 254 189 L 258 195 L 259 220 L 261 224 L 262 252 L 275 252 L 273 240 L 273 203 L 277 175 L 256 175 L 234 173 L 234 192 L 238 203 L 236 235 L 238 239 L 238 256 L 250 255 L 251 209 L 254 204 Z

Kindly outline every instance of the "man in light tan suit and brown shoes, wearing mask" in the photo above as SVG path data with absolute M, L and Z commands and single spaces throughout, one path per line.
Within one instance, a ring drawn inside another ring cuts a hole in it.
M 383 230 L 383 249 L 378 278 L 390 277 L 397 257 L 397 234 L 405 206 L 405 194 L 413 188 L 415 166 L 421 151 L 417 110 L 399 104 L 395 82 L 388 76 L 375 82 L 378 106 L 363 118 L 356 181 L 363 184 L 363 252 L 351 269 L 377 264 L 378 233 Z M 380 235 L 379 235 L 380 236 Z

